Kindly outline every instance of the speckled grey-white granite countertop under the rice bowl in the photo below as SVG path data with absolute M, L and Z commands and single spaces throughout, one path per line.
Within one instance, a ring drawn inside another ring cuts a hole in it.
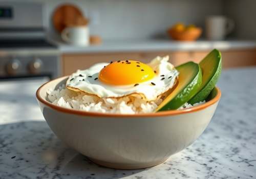
M 256 68 L 223 71 L 222 98 L 201 137 L 161 165 L 103 168 L 61 143 L 43 119 L 43 81 L 0 82 L 0 178 L 256 178 Z

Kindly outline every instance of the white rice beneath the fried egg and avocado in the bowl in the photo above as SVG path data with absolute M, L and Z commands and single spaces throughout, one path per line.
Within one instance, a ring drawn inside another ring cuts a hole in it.
M 152 113 L 162 102 L 161 97 L 155 101 L 147 102 L 139 95 L 126 96 L 118 99 L 99 98 L 97 96 L 71 91 L 67 89 L 65 85 L 60 86 L 56 90 L 49 89 L 47 97 L 51 103 L 61 107 L 97 113 L 116 114 Z M 205 103 L 205 101 L 194 105 L 185 103 L 179 109 L 200 105 L 202 103 Z

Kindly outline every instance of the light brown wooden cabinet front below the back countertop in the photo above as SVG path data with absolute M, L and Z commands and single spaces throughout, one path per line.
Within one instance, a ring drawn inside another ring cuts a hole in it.
M 126 53 L 87 53 L 87 54 L 63 54 L 62 74 L 70 75 L 77 69 L 87 69 L 99 62 L 110 62 L 123 59 L 134 59 L 142 62 L 150 62 L 156 56 L 169 55 L 170 62 L 175 66 L 187 61 L 201 61 L 209 51 L 182 51 L 182 52 L 126 52 Z M 222 51 L 223 68 L 256 65 L 256 49 Z

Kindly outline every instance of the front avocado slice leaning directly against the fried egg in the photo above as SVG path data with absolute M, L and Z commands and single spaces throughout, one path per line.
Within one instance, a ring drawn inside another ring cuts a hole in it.
M 202 83 L 199 64 L 189 61 L 176 68 L 179 71 L 178 85 L 157 107 L 156 111 L 172 110 L 191 99 Z

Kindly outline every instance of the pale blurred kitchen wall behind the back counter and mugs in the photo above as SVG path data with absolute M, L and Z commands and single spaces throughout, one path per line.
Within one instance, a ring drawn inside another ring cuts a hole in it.
M 246 10 L 253 7 L 250 2 L 256 6 L 256 1 L 251 0 L 19 0 L 25 1 L 45 3 L 45 25 L 53 38 L 58 38 L 51 23 L 54 9 L 62 3 L 72 3 L 91 19 L 91 34 L 98 34 L 103 39 L 163 38 L 166 37 L 166 29 L 178 21 L 204 28 L 207 15 L 231 16 L 237 22 L 232 36 L 256 39 L 256 24 L 242 20 L 256 16 L 256 11 Z M 244 15 L 241 16 L 241 13 Z

